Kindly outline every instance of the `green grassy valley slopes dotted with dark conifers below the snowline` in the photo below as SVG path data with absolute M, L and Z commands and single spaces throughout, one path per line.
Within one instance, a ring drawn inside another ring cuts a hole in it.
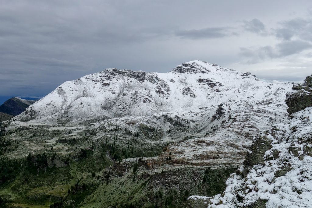
M 207 169 L 170 161 L 149 169 L 146 159 L 119 164 L 127 157 L 159 155 L 166 145 L 145 146 L 140 137 L 124 129 L 71 134 L 27 126 L 7 132 L 1 138 L 4 140 L 11 144 L 0 147 L 0 175 L 12 177 L 0 183 L 0 196 L 11 207 L 49 207 L 54 202 L 62 203 L 59 207 L 185 207 L 190 195 L 212 196 L 224 191 L 225 180 L 235 172 L 232 167 Z M 30 150 L 33 156 L 27 160 L 23 155 Z M 3 159 L 17 156 L 18 162 Z

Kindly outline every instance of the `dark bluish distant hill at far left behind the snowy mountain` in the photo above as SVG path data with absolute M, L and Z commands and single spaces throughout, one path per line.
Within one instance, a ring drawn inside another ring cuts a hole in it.
M 0 112 L 16 116 L 24 112 L 28 106 L 35 102 L 36 100 L 26 100 L 17 97 L 10 98 L 0 105 Z

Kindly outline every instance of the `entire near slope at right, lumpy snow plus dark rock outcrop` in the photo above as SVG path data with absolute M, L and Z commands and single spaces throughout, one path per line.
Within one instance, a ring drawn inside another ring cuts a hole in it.
M 311 207 L 312 75 L 287 94 L 290 119 L 274 122 L 253 138 L 243 165 L 223 194 L 190 196 L 210 208 Z

